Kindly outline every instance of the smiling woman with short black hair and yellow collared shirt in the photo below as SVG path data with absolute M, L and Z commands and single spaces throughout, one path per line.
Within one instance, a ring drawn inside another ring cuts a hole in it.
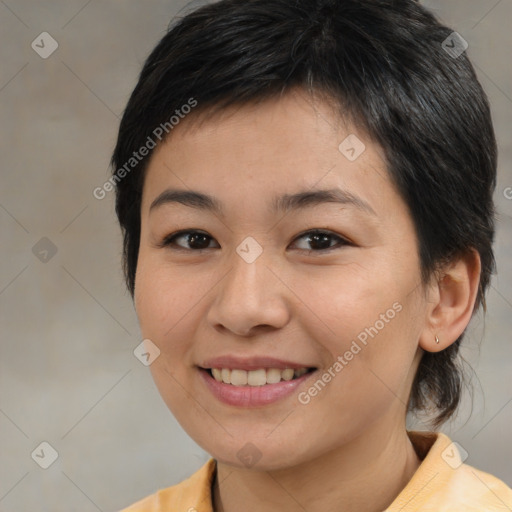
M 223 0 L 147 59 L 112 158 L 145 357 L 212 458 L 125 509 L 511 510 L 451 417 L 496 143 L 412 0 Z

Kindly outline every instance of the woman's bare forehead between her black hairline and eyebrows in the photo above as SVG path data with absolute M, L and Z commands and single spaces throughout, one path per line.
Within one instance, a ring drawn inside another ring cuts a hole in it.
M 301 93 L 199 122 L 185 117 L 154 151 L 143 209 L 169 187 L 200 191 L 220 203 L 237 199 L 244 208 L 256 207 L 259 198 L 274 212 L 285 206 L 279 197 L 306 190 L 344 190 L 377 207 L 397 199 L 381 148 L 332 105 Z

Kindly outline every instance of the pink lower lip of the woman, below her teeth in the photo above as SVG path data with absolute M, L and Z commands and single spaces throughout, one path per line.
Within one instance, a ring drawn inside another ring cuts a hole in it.
M 208 389 L 221 402 L 237 407 L 258 407 L 268 405 L 291 395 L 305 380 L 315 373 L 309 372 L 288 381 L 264 386 L 233 386 L 216 381 L 208 370 L 199 368 L 199 373 Z

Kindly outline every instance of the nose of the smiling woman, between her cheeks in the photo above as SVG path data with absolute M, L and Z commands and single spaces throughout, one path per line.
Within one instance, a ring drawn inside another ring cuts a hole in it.
M 271 267 L 265 251 L 250 263 L 233 251 L 230 270 L 216 287 L 208 311 L 209 324 L 244 337 L 284 327 L 290 319 L 291 292 Z

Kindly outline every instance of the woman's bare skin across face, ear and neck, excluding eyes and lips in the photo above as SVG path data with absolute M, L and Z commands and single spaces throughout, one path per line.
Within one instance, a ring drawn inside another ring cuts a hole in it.
M 421 354 L 446 348 L 471 318 L 478 255 L 422 286 L 412 219 L 381 148 L 332 112 L 297 90 L 200 124 L 190 115 L 147 169 L 135 307 L 161 351 L 150 368 L 164 401 L 218 461 L 217 511 L 384 510 L 420 464 L 405 414 Z M 366 146 L 353 162 L 338 149 L 349 134 Z M 224 216 L 178 203 L 150 212 L 167 188 L 212 195 Z M 275 195 L 320 188 L 349 191 L 375 214 L 337 203 L 270 212 Z M 298 238 L 315 228 L 337 248 Z M 186 237 L 160 246 L 182 229 L 207 234 L 208 248 L 194 252 Z M 236 252 L 247 236 L 263 248 L 253 263 Z M 208 358 L 267 355 L 316 367 L 307 391 L 394 303 L 401 311 L 307 405 L 297 393 L 226 405 L 200 378 Z M 249 442 L 261 455 L 252 467 L 237 457 Z

